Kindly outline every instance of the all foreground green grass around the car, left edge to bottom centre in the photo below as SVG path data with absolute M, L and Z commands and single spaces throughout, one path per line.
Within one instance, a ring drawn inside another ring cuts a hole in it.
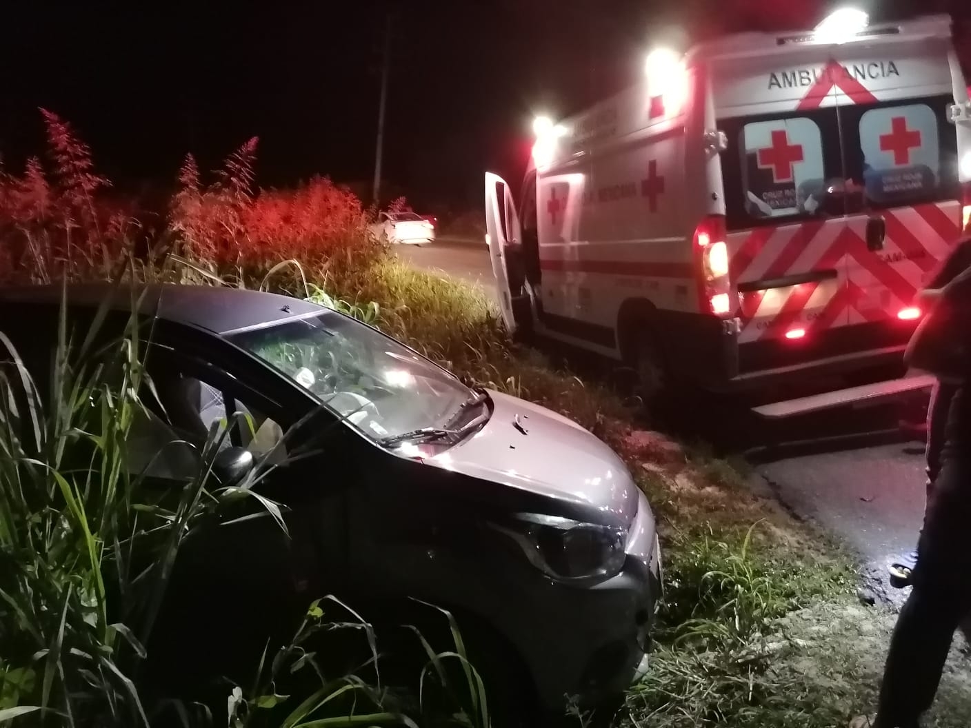
M 86 331 L 75 330 L 65 312 L 62 306 L 46 385 L 38 385 L 0 334 L 0 722 L 148 726 L 174 706 L 186 724 L 207 724 L 205 711 L 180 696 L 146 693 L 145 645 L 177 555 L 198 529 L 220 513 L 236 513 L 232 507 L 242 498 L 258 501 L 257 517 L 285 528 L 281 504 L 258 492 L 260 480 L 278 466 L 264 460 L 242 481 L 218 482 L 216 458 L 228 427 L 217 423 L 197 452 L 191 480 L 171 492 L 151 488 L 130 472 L 126 455 L 132 423 L 144 412 L 140 393 L 152 391 L 144 366 L 151 331 L 132 317 L 112 336 L 107 299 Z M 164 454 L 165 448 L 156 457 Z M 297 450 L 291 457 L 310 454 Z M 324 603 L 352 618 L 325 620 Z M 372 686 L 352 674 L 326 673 L 308 645 L 342 628 L 366 636 L 368 663 L 375 664 L 370 626 L 337 600 L 318 600 L 291 642 L 267 645 L 251 686 L 226 689 L 230 725 L 414 725 L 406 703 L 380 678 Z M 459 660 L 468 684 L 458 695 L 443 677 L 440 687 L 447 689 L 432 702 L 419 701 L 416 710 L 443 725 L 461 714 L 464 724 L 485 728 L 481 679 L 453 636 L 451 651 L 434 651 L 423 640 L 416 647 L 427 653 L 426 673 L 444 676 L 442 663 Z M 300 679 L 303 673 L 309 682 Z M 406 687 L 430 696 L 428 679 L 417 673 Z M 287 685 L 303 694 L 281 694 Z

